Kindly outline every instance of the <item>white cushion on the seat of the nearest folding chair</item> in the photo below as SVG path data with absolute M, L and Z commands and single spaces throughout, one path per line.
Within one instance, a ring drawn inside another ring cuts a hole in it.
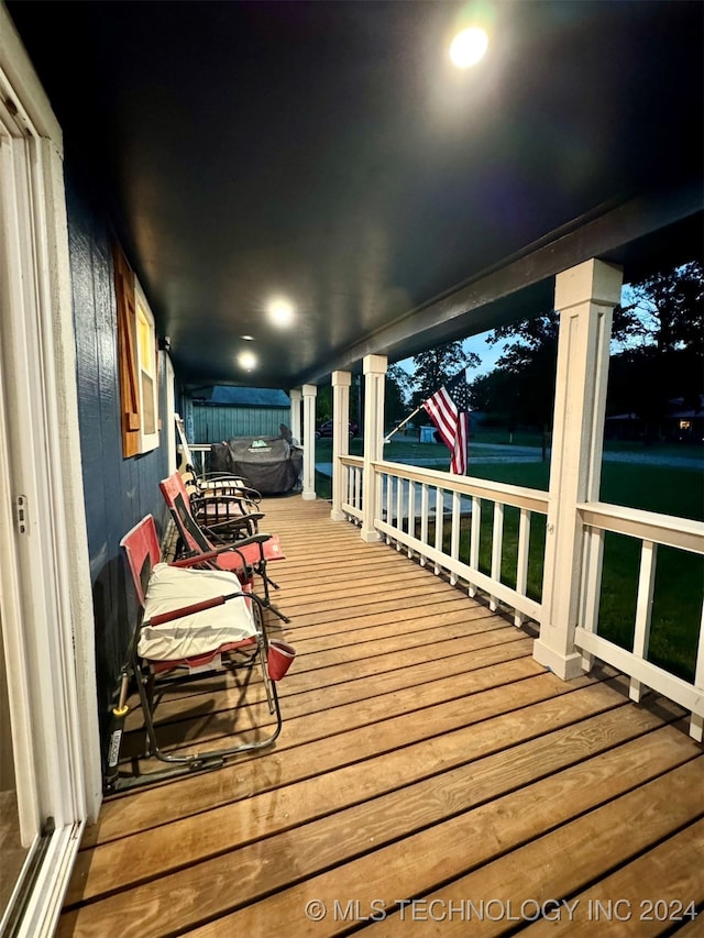
M 220 570 L 184 570 L 157 563 L 146 589 L 144 621 L 172 609 L 193 606 L 242 588 L 231 573 Z M 138 652 L 152 661 L 174 661 L 208 654 L 227 642 L 256 633 L 252 614 L 242 596 L 162 626 L 144 626 Z

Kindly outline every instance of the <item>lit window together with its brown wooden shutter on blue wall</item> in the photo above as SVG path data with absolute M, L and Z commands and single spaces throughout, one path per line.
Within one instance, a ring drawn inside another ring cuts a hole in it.
M 114 249 L 122 455 L 158 446 L 158 374 L 154 317 L 134 273 Z

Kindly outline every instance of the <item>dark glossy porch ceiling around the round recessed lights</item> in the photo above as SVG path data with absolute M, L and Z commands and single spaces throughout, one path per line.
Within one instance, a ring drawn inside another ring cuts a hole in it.
M 460 73 L 454 2 L 8 3 L 182 376 L 316 382 L 540 311 L 593 254 L 701 256 L 702 4 L 482 8 Z

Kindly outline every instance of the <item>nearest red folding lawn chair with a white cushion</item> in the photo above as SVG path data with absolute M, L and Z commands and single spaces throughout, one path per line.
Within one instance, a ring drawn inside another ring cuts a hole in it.
M 117 791 L 146 782 L 163 781 L 194 770 L 213 769 L 240 752 L 271 746 L 282 729 L 275 681 L 279 675 L 276 643 L 270 648 L 262 602 L 237 576 L 222 570 L 195 570 L 201 558 L 175 564 L 161 562 L 154 519 L 147 515 L 120 541 L 127 555 L 141 607 L 130 664 L 123 671 L 120 707 L 114 716 L 124 721 L 124 698 L 130 677 L 136 682 L 147 737 L 146 755 L 169 768 L 132 780 L 118 779 L 119 735 L 111 736 L 106 787 Z M 290 647 L 288 647 L 290 648 Z M 274 649 L 274 652 L 272 652 Z M 293 652 L 293 649 L 290 649 Z M 267 666 L 267 655 L 274 653 Z M 273 662 L 273 664 L 272 664 Z M 202 681 L 223 671 L 244 673 L 246 691 L 258 666 L 273 727 L 256 727 L 254 738 L 196 754 L 164 751 L 157 739 L 154 714 L 164 692 L 189 681 Z M 239 672 L 242 669 L 242 672 Z M 282 675 L 283 676 L 283 675 Z

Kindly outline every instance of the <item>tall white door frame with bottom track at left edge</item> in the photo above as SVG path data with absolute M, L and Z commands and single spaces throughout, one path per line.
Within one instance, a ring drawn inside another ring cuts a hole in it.
M 102 785 L 62 132 L 1 3 L 0 100 L 0 599 L 23 839 L 42 839 L 16 934 L 48 936 Z

